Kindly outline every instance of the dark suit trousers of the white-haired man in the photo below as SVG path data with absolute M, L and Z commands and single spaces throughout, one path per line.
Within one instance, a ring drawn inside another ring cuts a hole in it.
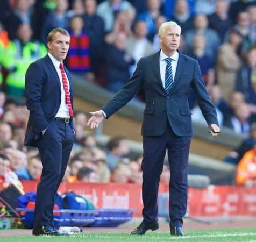
M 145 223 L 157 221 L 157 197 L 163 160 L 168 151 L 170 166 L 170 226 L 182 227 L 187 210 L 188 154 L 191 137 L 176 136 L 170 125 L 161 136 L 143 137 L 143 218 Z

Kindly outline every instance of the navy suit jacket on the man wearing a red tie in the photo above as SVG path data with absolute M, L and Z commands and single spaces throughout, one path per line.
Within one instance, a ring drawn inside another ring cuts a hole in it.
M 71 76 L 65 68 L 69 80 L 70 99 L 73 106 L 73 86 Z M 25 145 L 37 147 L 35 142 L 41 132 L 49 127 L 48 120 L 56 116 L 61 102 L 61 82 L 52 60 L 46 55 L 29 66 L 25 76 L 27 109 L 30 110 L 25 134 Z M 74 129 L 73 119 L 69 122 Z

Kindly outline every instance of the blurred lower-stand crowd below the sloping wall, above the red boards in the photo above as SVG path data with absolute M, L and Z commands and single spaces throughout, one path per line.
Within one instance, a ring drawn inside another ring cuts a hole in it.
M 25 104 L 6 99 L 4 92 L 0 92 L 0 110 L 0 185 L 16 184 L 22 188 L 19 180 L 38 180 L 42 172 L 38 149 L 24 146 L 29 111 Z M 124 137 L 113 137 L 100 147 L 86 131 L 87 117 L 83 112 L 75 113 L 74 122 L 75 144 L 64 181 L 142 182 L 142 157 L 130 152 Z M 162 181 L 168 182 L 168 175 L 162 176 Z

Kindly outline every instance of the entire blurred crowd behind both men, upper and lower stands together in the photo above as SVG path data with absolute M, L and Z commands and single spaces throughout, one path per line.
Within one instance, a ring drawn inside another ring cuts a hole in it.
M 46 55 L 49 31 L 55 27 L 69 31 L 65 65 L 70 72 L 117 92 L 141 57 L 159 51 L 158 29 L 168 20 L 182 28 L 179 50 L 198 60 L 220 126 L 249 137 L 246 149 L 238 147 L 225 161 L 237 164 L 246 151 L 254 149 L 256 1 L 1 0 L 0 176 L 4 177 L 4 170 L 17 175 L 17 180 L 40 175 L 37 150 L 23 146 L 26 107 L 6 101 L 5 95 L 24 96 L 26 69 Z M 139 92 L 138 99 L 143 101 L 143 93 Z M 205 124 L 192 90 L 189 107 L 193 120 Z M 76 144 L 66 181 L 141 182 L 141 157 L 131 158 L 124 138 L 97 147 L 94 137 L 84 132 L 84 113 L 76 114 L 75 124 Z M 253 169 L 256 177 L 256 165 Z M 164 167 L 161 179 L 168 181 L 168 174 Z

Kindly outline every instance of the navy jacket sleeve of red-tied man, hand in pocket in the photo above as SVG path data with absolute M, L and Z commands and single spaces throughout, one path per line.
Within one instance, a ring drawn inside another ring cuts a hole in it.
M 41 97 L 44 86 L 44 78 L 38 63 L 32 63 L 25 75 L 25 95 L 27 109 L 34 125 L 35 132 L 48 128 L 49 124 L 42 109 Z

